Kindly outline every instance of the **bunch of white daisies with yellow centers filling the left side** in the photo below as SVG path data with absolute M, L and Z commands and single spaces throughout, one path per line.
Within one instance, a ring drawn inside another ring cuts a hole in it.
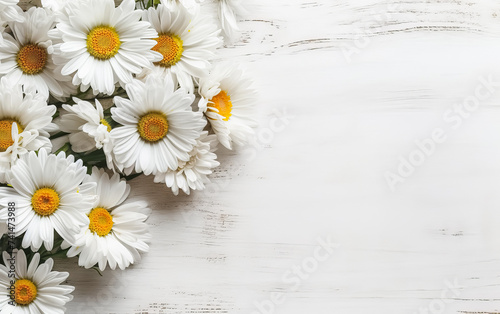
M 253 136 L 243 70 L 213 62 L 238 1 L 0 0 L 0 313 L 64 313 L 53 257 L 97 271 L 148 251 L 151 212 L 129 198 L 203 190 L 220 145 Z M 208 2 L 208 1 L 207 1 Z M 217 17 L 217 18 L 216 18 Z

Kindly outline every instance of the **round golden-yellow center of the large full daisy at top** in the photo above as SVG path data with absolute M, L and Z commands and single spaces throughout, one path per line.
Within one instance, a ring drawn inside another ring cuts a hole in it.
M 118 53 L 120 45 L 120 36 L 110 26 L 96 26 L 87 35 L 87 51 L 99 60 L 112 58 Z

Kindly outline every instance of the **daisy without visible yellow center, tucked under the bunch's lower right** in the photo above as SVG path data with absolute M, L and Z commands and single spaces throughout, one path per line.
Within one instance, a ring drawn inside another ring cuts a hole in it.
M 214 142 L 216 142 L 215 136 L 208 135 L 208 132 L 204 131 L 189 153 L 191 156 L 189 161 L 179 162 L 179 168 L 176 170 L 158 173 L 155 182 L 164 182 L 175 195 L 179 194 L 179 189 L 188 195 L 190 189 L 203 190 L 205 183 L 210 182 L 207 176 L 219 165 L 216 161 L 217 155 L 213 153 L 215 149 L 212 149 L 216 146 Z

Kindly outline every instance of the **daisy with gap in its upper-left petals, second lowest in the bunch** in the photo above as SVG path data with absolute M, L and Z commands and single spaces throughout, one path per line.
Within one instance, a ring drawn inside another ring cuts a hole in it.
M 110 178 L 94 167 L 85 182 L 97 184 L 99 200 L 87 212 L 90 223 L 81 229 L 67 254 L 79 254 L 78 265 L 85 268 L 98 264 L 103 271 L 109 264 L 111 269 L 118 265 L 123 270 L 140 260 L 139 252 L 149 250 L 151 235 L 145 221 L 151 210 L 144 201 L 126 201 L 130 186 L 117 173 Z

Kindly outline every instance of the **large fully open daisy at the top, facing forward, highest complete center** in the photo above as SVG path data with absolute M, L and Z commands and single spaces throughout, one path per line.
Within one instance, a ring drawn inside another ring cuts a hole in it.
M 115 84 L 124 86 L 143 68 L 151 67 L 161 55 L 151 50 L 158 37 L 151 24 L 140 21 L 141 11 L 134 0 L 117 8 L 113 0 L 78 1 L 66 7 L 67 16 L 50 32 L 63 43 L 55 45 L 54 59 L 63 65 L 81 90 L 92 87 L 94 94 L 112 95 Z

